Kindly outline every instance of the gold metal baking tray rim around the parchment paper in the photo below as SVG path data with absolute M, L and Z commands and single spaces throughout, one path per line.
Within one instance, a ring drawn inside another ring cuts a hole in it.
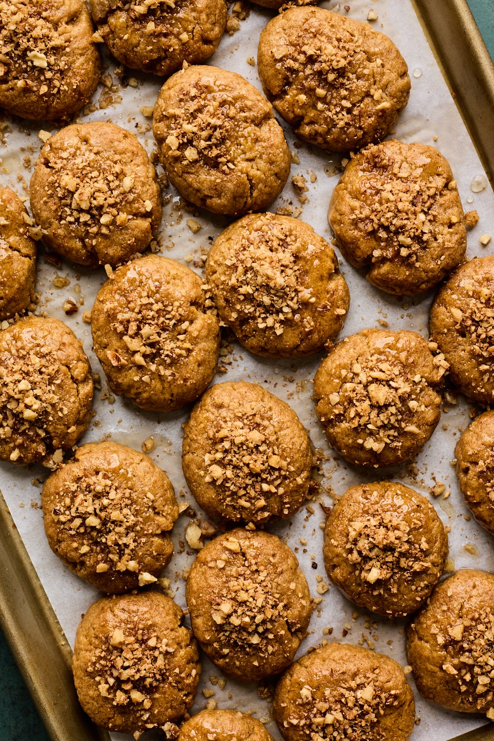
M 467 2 L 412 3 L 492 182 L 494 65 Z M 50 738 L 109 740 L 109 734 L 96 728 L 81 710 L 73 688 L 70 645 L 1 493 L 0 625 Z M 494 741 L 494 725 L 462 734 L 455 741 Z

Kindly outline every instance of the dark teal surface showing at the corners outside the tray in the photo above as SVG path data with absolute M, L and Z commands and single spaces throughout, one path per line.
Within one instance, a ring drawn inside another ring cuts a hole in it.
M 494 0 L 467 1 L 494 59 Z M 0 631 L 0 741 L 21 739 L 49 741 Z

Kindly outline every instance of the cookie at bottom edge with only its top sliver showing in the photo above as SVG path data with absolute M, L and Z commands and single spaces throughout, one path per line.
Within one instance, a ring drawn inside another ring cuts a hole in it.
M 178 741 L 273 741 L 260 720 L 236 710 L 201 710 L 180 728 Z

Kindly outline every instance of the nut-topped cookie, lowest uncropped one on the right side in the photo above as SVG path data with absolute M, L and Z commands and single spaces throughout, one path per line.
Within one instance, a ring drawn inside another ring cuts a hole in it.
M 418 610 L 444 570 L 447 535 L 433 505 L 390 481 L 338 499 L 324 529 L 324 567 L 357 605 L 387 617 Z

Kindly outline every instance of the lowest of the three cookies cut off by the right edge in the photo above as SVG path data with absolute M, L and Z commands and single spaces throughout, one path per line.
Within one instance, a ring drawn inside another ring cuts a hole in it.
M 408 660 L 426 700 L 494 715 L 494 576 L 463 569 L 441 582 L 407 630 Z

